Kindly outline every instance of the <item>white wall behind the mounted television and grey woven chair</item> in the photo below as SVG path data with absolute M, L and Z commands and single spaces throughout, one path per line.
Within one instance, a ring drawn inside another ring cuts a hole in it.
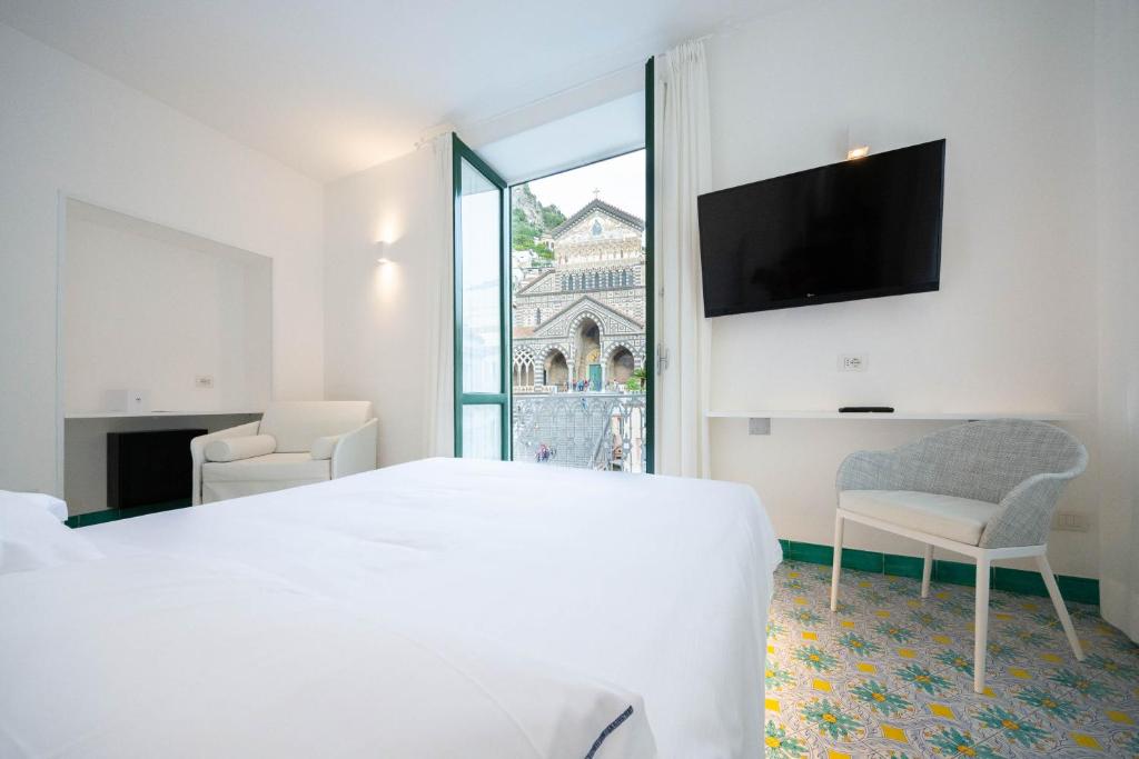
M 707 44 L 710 190 L 839 160 L 847 129 L 877 151 L 948 140 L 941 291 L 713 320 L 713 407 L 1095 414 L 1090 5 L 812 0 Z M 837 372 L 842 353 L 869 370 Z M 753 485 L 780 536 L 828 545 L 843 456 L 936 427 L 712 426 L 713 476 Z M 1071 429 L 1093 443 L 1092 421 Z M 1095 479 L 1062 508 L 1093 515 Z M 1096 576 L 1095 529 L 1052 535 L 1057 571 Z

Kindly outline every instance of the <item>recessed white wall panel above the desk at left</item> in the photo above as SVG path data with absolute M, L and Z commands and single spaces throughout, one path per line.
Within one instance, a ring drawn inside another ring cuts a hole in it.
M 65 412 L 107 411 L 107 394 L 128 388 L 147 393 L 145 411 L 263 411 L 272 259 L 67 207 Z

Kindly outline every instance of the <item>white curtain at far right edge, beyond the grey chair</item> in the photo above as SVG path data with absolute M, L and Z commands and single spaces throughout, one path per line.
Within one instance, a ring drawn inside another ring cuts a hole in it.
M 1096 3 L 1099 592 L 1139 642 L 1139 5 Z

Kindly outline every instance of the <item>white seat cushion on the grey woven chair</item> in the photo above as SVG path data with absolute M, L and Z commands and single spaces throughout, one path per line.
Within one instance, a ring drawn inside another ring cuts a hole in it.
M 838 508 L 907 529 L 977 545 L 1000 506 L 916 490 L 843 490 Z

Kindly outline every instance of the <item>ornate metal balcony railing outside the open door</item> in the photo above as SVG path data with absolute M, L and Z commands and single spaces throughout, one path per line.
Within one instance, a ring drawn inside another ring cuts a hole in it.
M 644 393 L 514 397 L 514 459 L 562 467 L 645 471 Z

